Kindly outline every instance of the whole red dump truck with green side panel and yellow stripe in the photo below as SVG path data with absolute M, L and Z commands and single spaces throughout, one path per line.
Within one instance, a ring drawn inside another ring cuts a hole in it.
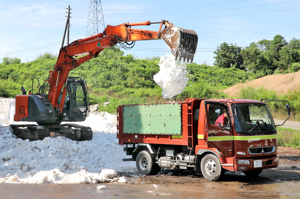
M 122 105 L 117 119 L 119 144 L 131 156 L 123 161 L 136 161 L 142 175 L 194 169 L 217 181 L 224 171 L 257 176 L 278 166 L 276 125 L 263 100 Z

